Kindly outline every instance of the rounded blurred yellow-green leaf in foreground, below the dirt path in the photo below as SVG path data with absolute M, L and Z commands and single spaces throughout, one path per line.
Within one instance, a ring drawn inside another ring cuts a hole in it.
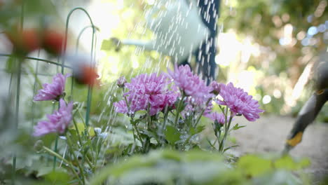
M 272 170 L 271 160 L 255 155 L 247 155 L 239 158 L 237 167 L 252 177 L 264 174 Z

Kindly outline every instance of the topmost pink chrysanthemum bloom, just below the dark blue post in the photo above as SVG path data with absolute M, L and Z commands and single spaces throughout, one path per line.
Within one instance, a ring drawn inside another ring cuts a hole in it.
M 188 65 L 177 66 L 175 64 L 175 71 L 168 70 L 169 75 L 186 95 L 194 98 L 202 98 L 205 101 L 212 97 L 210 93 L 211 88 L 197 75 L 193 75 Z

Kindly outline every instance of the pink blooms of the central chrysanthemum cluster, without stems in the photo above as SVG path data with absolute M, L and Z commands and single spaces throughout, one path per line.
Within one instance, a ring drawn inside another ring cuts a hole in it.
M 177 90 L 169 90 L 170 79 L 175 83 L 173 87 L 179 88 L 181 95 Z M 175 70 L 168 70 L 166 75 L 140 74 L 132 78 L 130 83 L 126 83 L 125 78 L 121 77 L 117 84 L 129 90 L 123 95 L 125 100 L 114 104 L 116 111 L 123 114 L 149 109 L 152 116 L 162 111 L 165 106 L 173 107 L 177 97 L 180 97 L 180 100 L 184 97 L 184 109 L 179 110 L 183 117 L 201 112 L 212 121 L 225 123 L 223 114 L 211 113 L 211 100 L 227 106 L 232 117 L 242 114 L 248 121 L 255 121 L 259 118 L 259 113 L 264 112 L 259 109 L 257 100 L 253 100 L 252 96 L 241 88 L 235 88 L 232 83 L 225 85 L 215 81 L 207 86 L 199 76 L 192 73 L 188 65 L 178 67 L 175 64 Z M 222 99 L 214 98 L 216 95 Z

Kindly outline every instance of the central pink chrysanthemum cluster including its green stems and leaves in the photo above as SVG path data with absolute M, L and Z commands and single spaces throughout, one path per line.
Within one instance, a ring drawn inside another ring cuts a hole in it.
M 235 88 L 232 83 L 224 85 L 216 81 L 206 85 L 199 76 L 192 73 L 188 65 L 178 67 L 175 64 L 174 71 L 168 70 L 168 74 L 159 76 L 140 74 L 132 78 L 130 83 L 121 77 L 118 78 L 116 85 L 122 88 L 123 92 L 125 88 L 128 89 L 128 92 L 123 94 L 123 100 L 114 103 L 116 112 L 128 114 L 133 118 L 135 111 L 147 111 L 144 116 L 131 120 L 134 139 L 138 139 L 142 144 L 142 152 L 149 151 L 152 135 L 158 135 L 153 137 L 158 143 L 171 144 L 184 149 L 185 144 L 192 142 L 193 136 L 201 132 L 202 127 L 197 125 L 204 116 L 214 122 L 212 126 L 217 139 L 213 144 L 210 142 L 210 145 L 224 153 L 232 147 L 225 147 L 229 132 L 242 128 L 236 124 L 231 129 L 233 117 L 244 115 L 247 120 L 255 121 L 259 118 L 259 113 L 263 112 L 259 109 L 258 102 L 252 100 L 252 96 L 247 95 L 242 89 Z M 221 113 L 212 111 L 214 107 L 212 102 L 220 105 Z M 166 110 L 165 107 L 170 109 Z M 153 116 L 159 115 L 159 111 L 163 111 L 163 116 Z M 163 125 L 156 125 L 161 123 L 162 119 Z M 145 125 L 140 129 L 137 125 L 144 121 Z M 179 141 L 172 141 L 172 138 L 166 136 L 165 132 L 170 130 L 165 126 L 169 124 L 177 127 L 175 132 L 179 132 Z M 200 131 L 194 132 L 194 128 Z M 140 133 L 145 132 L 144 129 L 151 134 L 141 135 Z M 183 144 L 177 145 L 177 143 Z

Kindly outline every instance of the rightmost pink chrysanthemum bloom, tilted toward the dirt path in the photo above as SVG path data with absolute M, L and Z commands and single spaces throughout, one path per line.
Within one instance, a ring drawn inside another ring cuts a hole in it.
M 264 110 L 259 109 L 259 102 L 253 100 L 242 88 L 235 88 L 233 83 L 221 84 L 220 94 L 223 100 L 216 100 L 218 104 L 229 107 L 233 114 L 242 114 L 248 121 L 255 121 L 259 118 L 259 113 Z

